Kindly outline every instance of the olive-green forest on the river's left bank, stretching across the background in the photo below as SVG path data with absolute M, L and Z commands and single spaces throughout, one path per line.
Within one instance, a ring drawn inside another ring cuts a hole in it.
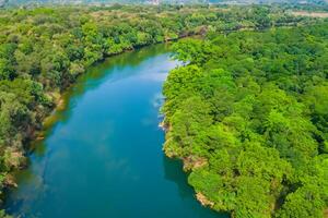
M 36 137 L 44 118 L 60 101 L 60 93 L 91 64 L 189 35 L 313 22 L 315 19 L 295 17 L 277 7 L 117 4 L 0 10 L 0 191 L 14 184 L 9 172 L 24 162 L 27 142 Z M 207 58 L 203 52 L 196 55 Z M 269 61 L 268 68 L 276 68 Z

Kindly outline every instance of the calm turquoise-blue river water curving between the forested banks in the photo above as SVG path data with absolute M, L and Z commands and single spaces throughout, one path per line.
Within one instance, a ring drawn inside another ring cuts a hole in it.
M 224 217 L 200 206 L 162 152 L 161 89 L 178 63 L 165 45 L 110 58 L 81 76 L 54 114 L 5 208 L 21 217 Z

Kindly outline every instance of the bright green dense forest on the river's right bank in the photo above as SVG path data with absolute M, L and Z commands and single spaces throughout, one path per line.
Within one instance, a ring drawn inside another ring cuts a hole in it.
M 233 217 L 326 217 L 328 23 L 209 33 L 175 58 L 164 150 L 197 198 Z

